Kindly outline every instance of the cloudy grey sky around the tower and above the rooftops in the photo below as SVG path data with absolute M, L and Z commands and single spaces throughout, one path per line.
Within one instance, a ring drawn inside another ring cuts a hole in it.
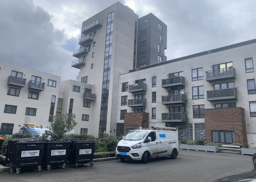
M 120 0 L 167 24 L 167 60 L 256 38 L 255 0 Z M 116 0 L 0 0 L 0 60 L 74 79 L 82 22 Z

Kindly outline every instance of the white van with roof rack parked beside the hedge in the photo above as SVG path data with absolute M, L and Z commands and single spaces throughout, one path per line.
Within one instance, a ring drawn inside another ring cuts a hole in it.
M 142 160 L 147 163 L 151 158 L 170 156 L 176 159 L 179 144 L 176 128 L 152 126 L 146 130 L 132 130 L 118 142 L 116 157 L 121 161 Z

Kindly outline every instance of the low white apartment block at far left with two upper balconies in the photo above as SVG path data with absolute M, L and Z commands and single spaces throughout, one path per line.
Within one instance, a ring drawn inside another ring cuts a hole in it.
M 0 61 L 0 135 L 19 124 L 49 126 L 55 115 L 60 77 Z

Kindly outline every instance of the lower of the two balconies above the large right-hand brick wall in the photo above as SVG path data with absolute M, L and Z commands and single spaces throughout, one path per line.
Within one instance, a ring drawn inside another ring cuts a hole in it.
M 236 88 L 210 90 L 210 91 L 206 91 L 206 92 L 207 92 L 207 100 L 208 101 L 237 100 Z

